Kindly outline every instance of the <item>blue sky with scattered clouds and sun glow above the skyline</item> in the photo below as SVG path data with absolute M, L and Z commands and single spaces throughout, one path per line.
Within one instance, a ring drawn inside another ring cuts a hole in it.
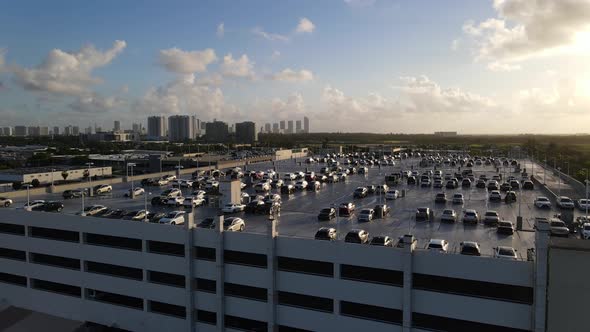
M 3 1 L 0 126 L 587 133 L 590 0 Z

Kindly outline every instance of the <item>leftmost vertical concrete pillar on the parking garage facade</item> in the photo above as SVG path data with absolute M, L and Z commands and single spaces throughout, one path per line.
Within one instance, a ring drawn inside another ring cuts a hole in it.
M 186 276 L 186 281 L 185 281 L 185 294 L 186 294 L 186 300 L 185 300 L 185 307 L 186 307 L 186 331 L 187 332 L 194 332 L 194 328 L 195 328 L 195 323 L 196 323 L 196 319 L 195 319 L 195 289 L 194 289 L 194 280 L 195 280 L 195 275 L 193 273 L 193 267 L 194 267 L 194 259 L 195 257 L 193 257 L 193 253 L 195 252 L 193 250 L 194 248 L 194 244 L 193 244 L 193 230 L 195 228 L 195 218 L 194 218 L 194 214 L 192 212 L 187 213 L 185 216 L 185 234 L 186 234 L 186 240 L 184 241 L 184 257 L 185 257 L 185 262 L 186 262 L 186 271 L 185 271 L 185 276 Z

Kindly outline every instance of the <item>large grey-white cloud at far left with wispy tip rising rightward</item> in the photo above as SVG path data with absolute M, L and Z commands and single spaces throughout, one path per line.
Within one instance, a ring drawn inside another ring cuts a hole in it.
M 93 77 L 92 72 L 106 66 L 127 46 L 125 41 L 117 40 L 106 51 L 88 45 L 76 53 L 54 49 L 45 60 L 35 68 L 15 66 L 15 82 L 30 91 L 80 96 L 90 92 L 90 86 L 102 82 Z

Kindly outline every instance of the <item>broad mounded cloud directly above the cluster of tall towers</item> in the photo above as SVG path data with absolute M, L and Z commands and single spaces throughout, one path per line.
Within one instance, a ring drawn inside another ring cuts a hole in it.
M 132 105 L 136 114 L 196 114 L 201 119 L 232 118 L 236 110 L 225 104 L 219 88 L 200 85 L 193 74 L 149 89 Z

